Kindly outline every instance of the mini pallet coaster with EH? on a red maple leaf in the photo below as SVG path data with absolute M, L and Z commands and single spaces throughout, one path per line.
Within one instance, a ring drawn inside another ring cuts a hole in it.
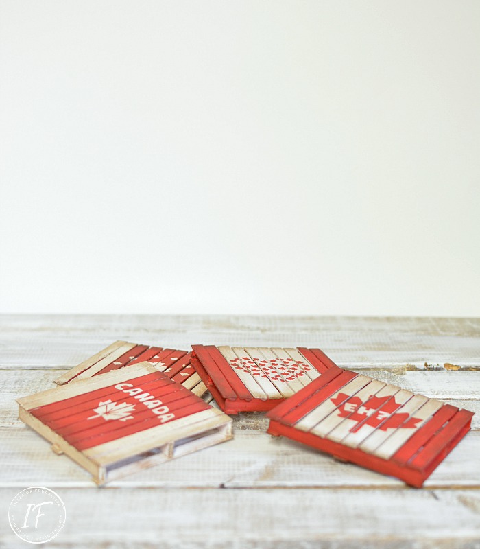
M 268 432 L 421 487 L 472 412 L 335 367 L 271 410 Z

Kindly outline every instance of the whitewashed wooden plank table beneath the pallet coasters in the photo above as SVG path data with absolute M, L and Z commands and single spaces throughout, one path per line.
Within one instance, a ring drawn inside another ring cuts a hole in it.
M 480 547 L 480 319 L 5 315 L 0 334 L 5 547 L 25 547 L 6 515 L 14 495 L 35 485 L 55 490 L 67 509 L 49 547 Z M 235 417 L 233 441 L 99 489 L 19 421 L 15 399 L 51 388 L 119 339 L 320 347 L 339 366 L 478 415 L 424 489 L 273 439 L 254 412 Z

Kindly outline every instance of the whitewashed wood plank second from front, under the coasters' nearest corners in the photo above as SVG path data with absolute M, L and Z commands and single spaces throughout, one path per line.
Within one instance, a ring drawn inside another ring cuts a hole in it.
M 95 489 L 90 476 L 58 456 L 29 428 L 1 429 L 0 488 L 47 485 Z M 470 432 L 425 483 L 426 487 L 479 487 L 480 432 Z M 265 432 L 235 428 L 232 441 L 158 465 L 112 487 L 325 488 L 398 487 L 395 478 L 340 463 L 327 454 Z M 279 496 L 280 497 L 280 496 Z

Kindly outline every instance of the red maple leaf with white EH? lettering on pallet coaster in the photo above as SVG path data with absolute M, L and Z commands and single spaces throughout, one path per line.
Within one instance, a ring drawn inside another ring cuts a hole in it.
M 350 432 L 358 431 L 363 425 L 372 425 L 372 427 L 378 427 L 383 431 L 395 427 L 411 429 L 416 427 L 419 421 L 422 421 L 420 418 L 410 417 L 408 413 L 395 413 L 395 410 L 398 410 L 402 405 L 398 404 L 392 395 L 370 396 L 363 402 L 359 397 L 348 397 L 345 393 L 339 393 L 331 401 L 337 406 L 340 417 L 348 417 L 348 419 L 357 421 L 357 425 L 354 425 Z

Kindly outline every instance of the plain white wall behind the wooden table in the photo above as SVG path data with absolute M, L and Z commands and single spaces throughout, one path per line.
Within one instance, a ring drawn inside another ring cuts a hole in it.
M 0 311 L 480 314 L 480 2 L 1 1 Z

